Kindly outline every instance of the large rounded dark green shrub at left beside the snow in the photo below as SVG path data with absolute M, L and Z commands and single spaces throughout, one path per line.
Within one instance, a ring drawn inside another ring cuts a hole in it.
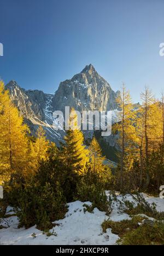
M 37 225 L 40 230 L 51 229 L 52 221 L 65 217 L 67 207 L 60 187 L 56 192 L 49 183 L 43 187 L 33 184 L 19 190 L 17 195 L 18 207 L 15 207 L 20 220 L 19 227 L 26 228 Z

